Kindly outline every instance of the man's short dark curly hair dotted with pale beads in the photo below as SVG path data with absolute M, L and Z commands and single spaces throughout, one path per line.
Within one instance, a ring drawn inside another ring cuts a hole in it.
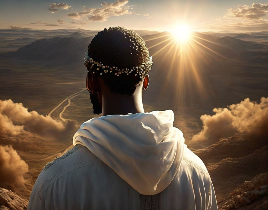
M 101 76 L 111 92 L 128 95 L 134 93 L 152 67 L 144 40 L 122 27 L 98 32 L 88 46 L 87 58 L 92 59 L 84 63 L 88 71 Z

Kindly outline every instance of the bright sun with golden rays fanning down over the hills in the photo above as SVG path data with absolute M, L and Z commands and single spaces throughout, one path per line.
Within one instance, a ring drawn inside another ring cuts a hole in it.
M 162 84 L 164 88 L 160 91 L 159 102 L 165 95 L 179 107 L 183 101 L 191 101 L 189 94 L 208 97 L 206 84 L 202 83 L 205 81 L 204 68 L 200 63 L 206 65 L 211 59 L 226 59 L 217 50 L 217 43 L 207 39 L 206 34 L 193 31 L 193 27 L 187 24 L 177 24 L 169 32 L 156 34 L 145 41 L 150 46 L 148 49 L 153 59 L 162 60 L 159 68 L 165 69 L 163 75 L 166 79 Z M 173 87 L 173 90 L 165 87 Z

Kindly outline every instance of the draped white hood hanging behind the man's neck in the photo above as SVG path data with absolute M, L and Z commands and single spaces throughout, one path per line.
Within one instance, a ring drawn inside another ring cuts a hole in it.
M 186 145 L 173 127 L 172 110 L 92 118 L 75 133 L 86 146 L 139 193 L 153 195 L 173 180 Z

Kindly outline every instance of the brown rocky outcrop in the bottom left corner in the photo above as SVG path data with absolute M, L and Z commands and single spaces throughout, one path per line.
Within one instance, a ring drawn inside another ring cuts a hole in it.
M 0 209 L 1 210 L 26 210 L 28 201 L 19 197 L 11 190 L 0 187 Z

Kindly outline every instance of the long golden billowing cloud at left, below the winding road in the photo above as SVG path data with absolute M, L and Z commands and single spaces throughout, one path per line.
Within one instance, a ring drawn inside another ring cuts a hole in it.
M 22 103 L 12 100 L 0 100 L 0 135 L 18 135 L 30 131 L 38 135 L 60 135 L 73 126 L 71 121 L 63 123 L 36 111 L 29 112 Z

